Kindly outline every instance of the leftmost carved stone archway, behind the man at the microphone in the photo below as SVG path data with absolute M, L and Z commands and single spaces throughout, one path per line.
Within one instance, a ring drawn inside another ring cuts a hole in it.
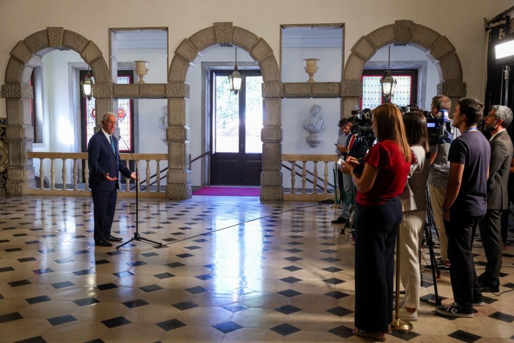
M 30 100 L 33 98 L 30 76 L 42 56 L 54 49 L 71 49 L 80 53 L 91 66 L 97 83 L 111 82 L 102 52 L 93 41 L 62 27 L 49 27 L 35 32 L 12 49 L 7 63 L 2 97 L 7 107 L 8 163 L 6 191 L 9 195 L 26 195 L 34 187 L 34 168 L 27 152 L 32 151 L 34 139 Z M 110 98 L 96 99 L 98 113 L 112 110 Z M 97 118 L 97 120 L 101 118 Z

